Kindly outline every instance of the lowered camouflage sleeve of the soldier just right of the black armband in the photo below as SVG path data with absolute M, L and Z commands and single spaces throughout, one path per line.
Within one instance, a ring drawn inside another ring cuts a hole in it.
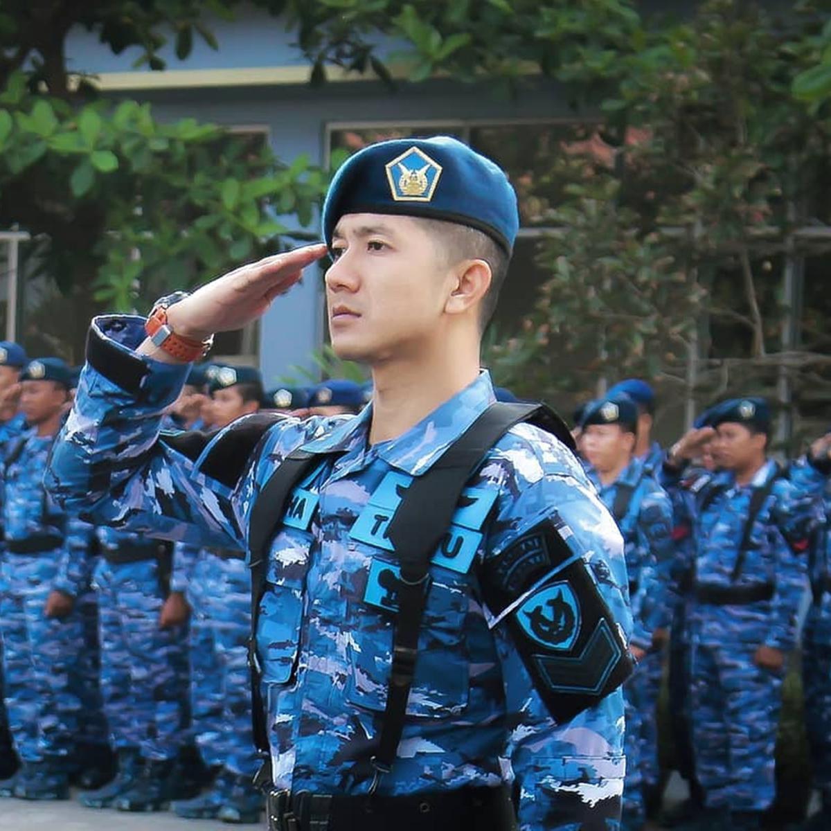
M 669 623 L 669 583 L 675 567 L 672 544 L 672 507 L 666 491 L 654 481 L 644 481 L 647 493 L 637 516 L 636 543 L 643 563 L 637 597 L 632 598 L 632 643 L 652 647 L 652 633 Z

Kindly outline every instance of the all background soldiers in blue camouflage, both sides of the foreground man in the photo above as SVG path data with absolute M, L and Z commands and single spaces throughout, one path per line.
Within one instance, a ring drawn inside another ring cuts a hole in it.
M 90 808 L 173 801 L 184 817 L 256 822 L 242 555 L 156 543 L 118 530 L 118 518 L 116 529 L 93 528 L 61 514 L 42 472 L 75 378 L 62 361 L 28 361 L 0 344 L 0 629 L 14 748 L 0 756 L 0 794 L 61 799 L 74 783 Z M 366 398 L 351 381 L 265 394 L 249 367 L 195 366 L 169 426 L 221 429 L 262 408 L 336 415 Z M 829 443 L 780 468 L 767 455 L 770 410 L 747 398 L 707 411 L 666 453 L 651 440 L 654 404 L 649 386 L 624 381 L 576 419 L 589 475 L 626 543 L 639 666 L 626 690 L 624 823 L 642 827 L 660 802 L 655 712 L 667 641 L 676 755 L 692 791 L 682 823 L 765 821 L 785 656 L 809 587 L 806 716 L 823 795 L 811 827 L 828 827 Z

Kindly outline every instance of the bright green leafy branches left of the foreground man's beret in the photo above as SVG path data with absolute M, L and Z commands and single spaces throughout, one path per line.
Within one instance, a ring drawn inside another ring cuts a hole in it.
M 102 307 L 146 307 L 281 245 L 276 219 L 312 218 L 326 184 L 307 159 L 283 165 L 264 144 L 150 106 L 96 96 L 66 67 L 72 26 L 138 63 L 164 68 L 194 37 L 215 46 L 205 12 L 231 2 L 4 2 L 0 11 L 0 228 L 37 239 L 37 261 L 65 293 Z M 167 32 L 163 35 L 161 32 Z M 77 351 L 77 350 L 76 350 Z

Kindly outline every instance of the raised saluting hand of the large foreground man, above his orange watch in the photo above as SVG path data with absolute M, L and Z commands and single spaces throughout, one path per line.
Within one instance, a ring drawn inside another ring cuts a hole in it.
M 297 283 L 303 268 L 326 253 L 326 245 L 317 243 L 235 268 L 171 306 L 170 328 L 196 341 L 241 329 L 261 317 L 275 297 Z

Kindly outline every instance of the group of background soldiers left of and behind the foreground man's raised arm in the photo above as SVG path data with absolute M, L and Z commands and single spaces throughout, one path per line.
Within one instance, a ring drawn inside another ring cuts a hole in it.
M 256 823 L 243 555 L 67 515 L 43 489 L 78 374 L 0 342 L 0 796 Z M 265 393 L 245 366 L 194 366 L 170 430 L 261 409 L 355 412 L 352 381 Z

